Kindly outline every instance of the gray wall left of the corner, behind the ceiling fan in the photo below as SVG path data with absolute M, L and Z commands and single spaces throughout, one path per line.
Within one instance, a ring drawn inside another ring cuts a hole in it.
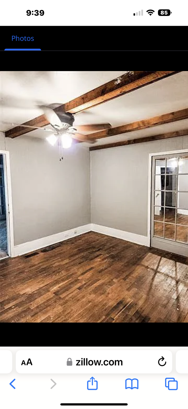
M 76 144 L 59 162 L 46 140 L 0 133 L 0 150 L 10 152 L 15 245 L 91 222 L 88 148 Z

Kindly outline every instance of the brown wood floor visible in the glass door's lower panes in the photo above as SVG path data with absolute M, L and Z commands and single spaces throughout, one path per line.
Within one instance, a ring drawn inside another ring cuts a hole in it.
M 166 223 L 175 223 L 175 212 L 174 213 L 166 213 L 165 214 L 165 220 L 164 220 L 164 215 L 160 214 L 157 215 L 155 214 L 155 220 L 158 222 L 155 222 L 154 226 L 154 235 L 163 237 L 163 226 L 164 223 L 159 223 L 165 221 L 165 238 L 170 238 L 171 240 L 175 240 L 175 224 L 170 225 Z M 188 243 L 188 216 L 184 214 L 177 214 L 177 235 L 176 235 L 176 240 L 183 242 L 183 243 Z M 183 226 L 179 226 L 178 224 L 181 224 Z

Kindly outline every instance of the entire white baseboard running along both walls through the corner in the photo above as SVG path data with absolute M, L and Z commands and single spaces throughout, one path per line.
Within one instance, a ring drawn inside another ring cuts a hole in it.
M 42 247 L 47 247 L 55 243 L 59 243 L 60 241 L 67 240 L 68 238 L 80 236 L 80 234 L 87 233 L 88 231 L 96 231 L 97 233 L 106 234 L 107 236 L 117 237 L 132 243 L 148 246 L 148 238 L 146 236 L 140 236 L 139 234 L 130 233 L 128 231 L 89 223 L 88 225 L 75 227 L 75 229 L 62 231 L 61 233 L 53 234 L 52 236 L 42 237 L 37 240 L 14 246 L 13 257 L 33 252 L 41 249 Z

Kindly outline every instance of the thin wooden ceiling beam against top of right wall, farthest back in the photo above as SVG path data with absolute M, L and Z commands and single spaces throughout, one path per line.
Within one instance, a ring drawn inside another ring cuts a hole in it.
M 97 151 L 98 149 L 114 148 L 115 146 L 140 144 L 143 142 L 157 141 L 158 139 L 175 138 L 175 137 L 184 136 L 184 135 L 188 135 L 188 129 L 176 130 L 173 132 L 163 133 L 160 135 L 146 136 L 144 138 L 129 139 L 126 141 L 121 141 L 121 142 L 113 142 L 111 144 L 92 146 L 91 148 L 89 148 L 89 150 Z

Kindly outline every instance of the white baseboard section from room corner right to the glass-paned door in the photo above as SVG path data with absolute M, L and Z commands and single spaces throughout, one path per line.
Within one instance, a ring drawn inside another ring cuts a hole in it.
M 141 236 L 140 234 L 130 233 L 129 231 L 113 229 L 112 227 L 95 225 L 94 223 L 91 223 L 91 231 L 96 231 L 97 233 L 102 233 L 102 234 L 106 234 L 107 236 L 121 238 L 122 240 L 131 241 L 132 243 L 137 243 L 137 244 L 141 244 L 142 246 L 149 247 L 148 237 Z

